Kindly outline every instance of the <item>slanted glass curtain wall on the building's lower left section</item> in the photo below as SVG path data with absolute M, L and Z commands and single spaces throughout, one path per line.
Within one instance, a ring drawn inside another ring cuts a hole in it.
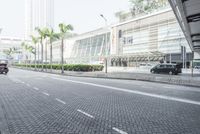
M 103 58 L 109 54 L 110 33 L 100 34 L 75 41 L 67 61 L 74 64 L 102 64 Z

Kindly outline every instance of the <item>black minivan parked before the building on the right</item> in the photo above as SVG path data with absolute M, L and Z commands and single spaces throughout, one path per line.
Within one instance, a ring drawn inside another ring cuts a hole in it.
M 165 74 L 175 74 L 181 73 L 181 68 L 177 64 L 162 63 L 153 67 L 151 73 L 165 73 Z

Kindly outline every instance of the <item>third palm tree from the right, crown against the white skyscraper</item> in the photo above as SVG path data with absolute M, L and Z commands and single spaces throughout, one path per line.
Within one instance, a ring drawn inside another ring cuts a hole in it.
M 39 27 L 36 27 L 35 30 L 39 34 L 39 41 L 41 45 L 41 60 L 42 60 L 42 71 L 44 69 L 44 61 L 43 61 L 43 40 L 46 38 L 46 28 L 40 29 Z

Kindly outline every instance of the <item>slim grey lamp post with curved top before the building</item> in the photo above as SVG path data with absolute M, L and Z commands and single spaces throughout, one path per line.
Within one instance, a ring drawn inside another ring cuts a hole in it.
M 101 18 L 103 18 L 104 19 L 104 21 L 105 21 L 105 28 L 107 28 L 107 19 L 104 17 L 104 15 L 103 14 L 100 14 L 100 16 L 101 16 Z M 107 46 L 107 32 L 106 32 L 106 39 L 105 39 L 105 58 L 104 58 L 104 61 L 105 61 L 105 73 L 107 73 L 108 72 L 108 57 L 107 57 L 107 55 L 108 55 L 108 46 Z

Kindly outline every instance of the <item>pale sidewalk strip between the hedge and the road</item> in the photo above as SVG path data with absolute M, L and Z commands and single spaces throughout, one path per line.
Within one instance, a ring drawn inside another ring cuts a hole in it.
M 15 67 L 19 68 L 19 67 Z M 25 69 L 25 68 L 19 68 Z M 26 69 L 34 71 L 32 69 Z M 60 70 L 53 70 L 53 74 L 60 74 Z M 44 69 L 44 73 L 51 73 L 50 70 Z M 200 74 L 195 73 L 194 77 L 191 74 L 183 73 L 180 75 L 165 75 L 165 74 L 150 74 L 149 72 L 73 72 L 65 71 L 66 76 L 76 76 L 76 77 L 93 77 L 93 78 L 108 78 L 108 79 L 126 79 L 126 80 L 141 80 L 159 83 L 169 83 L 184 86 L 195 86 L 200 87 Z

